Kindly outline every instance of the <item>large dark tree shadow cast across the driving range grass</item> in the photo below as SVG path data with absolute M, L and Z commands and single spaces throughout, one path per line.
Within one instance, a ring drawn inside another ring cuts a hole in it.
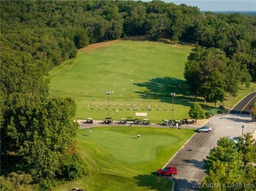
M 193 97 L 188 90 L 188 85 L 185 80 L 163 77 L 152 78 L 147 82 L 135 83 L 135 86 L 146 88 L 146 91 L 136 93 L 142 99 L 158 99 L 164 103 L 172 103 L 171 92 L 175 92 L 175 105 L 184 105 L 191 107 L 195 102 L 201 102 L 203 109 L 211 109 L 209 105 L 202 104 L 202 98 Z

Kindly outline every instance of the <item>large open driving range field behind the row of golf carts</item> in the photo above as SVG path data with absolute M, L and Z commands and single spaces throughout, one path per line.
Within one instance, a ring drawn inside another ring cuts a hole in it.
M 132 120 L 136 112 L 147 112 L 151 122 L 182 120 L 188 118 L 192 103 L 200 103 L 205 110 L 214 106 L 188 94 L 183 73 L 192 48 L 179 43 L 125 40 L 86 52 L 80 50 L 76 58 L 51 71 L 50 94 L 72 97 L 77 104 L 77 119 L 104 120 L 108 116 L 106 92 L 110 91 L 109 113 L 114 120 Z M 253 87 L 256 89 L 256 84 Z M 231 109 L 251 92 L 251 88 L 241 88 L 238 97 L 227 95 L 225 107 Z M 171 92 L 176 93 L 174 116 Z M 148 107 L 152 111 L 147 111 Z

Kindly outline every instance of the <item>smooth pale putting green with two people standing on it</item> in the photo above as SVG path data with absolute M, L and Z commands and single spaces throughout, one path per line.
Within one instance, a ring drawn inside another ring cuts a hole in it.
M 137 139 L 137 133 L 121 133 L 97 128 L 92 131 L 93 135 L 89 136 L 89 130 L 83 130 L 79 137 L 95 141 L 106 147 L 114 158 L 123 162 L 150 162 L 156 158 L 157 148 L 173 145 L 179 141 L 177 137 L 172 135 L 140 134 L 140 139 Z M 139 132 L 139 130 L 137 131 Z

